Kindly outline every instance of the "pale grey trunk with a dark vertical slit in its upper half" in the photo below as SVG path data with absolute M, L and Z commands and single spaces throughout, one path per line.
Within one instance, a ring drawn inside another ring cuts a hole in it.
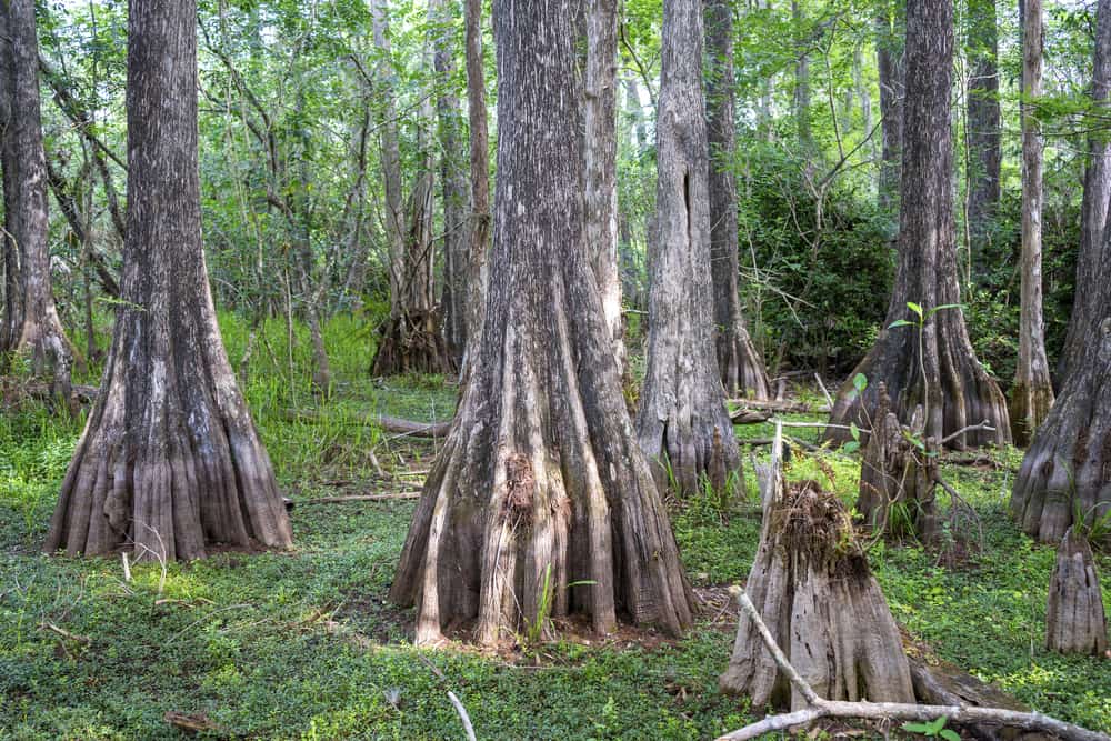
M 740 465 L 713 348 L 709 144 L 702 96 L 702 6 L 663 6 L 649 340 L 637 415 L 641 448 L 692 491 Z

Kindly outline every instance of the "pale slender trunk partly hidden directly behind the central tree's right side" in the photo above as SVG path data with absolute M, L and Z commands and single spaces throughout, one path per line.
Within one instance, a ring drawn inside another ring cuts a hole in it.
M 618 271 L 618 1 L 595 0 L 587 16 L 587 243 L 618 367 L 624 367 L 621 276 Z

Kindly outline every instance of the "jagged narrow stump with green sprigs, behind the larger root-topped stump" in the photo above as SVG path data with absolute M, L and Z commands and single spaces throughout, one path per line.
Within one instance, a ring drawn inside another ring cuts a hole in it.
M 937 453 L 939 445 L 934 438 L 923 438 L 923 417 L 919 407 L 909 427 L 900 424 L 880 384 L 872 433 L 860 464 L 857 499 L 857 511 L 873 531 L 917 533 L 924 540 L 938 534 L 938 455 L 931 453 Z

